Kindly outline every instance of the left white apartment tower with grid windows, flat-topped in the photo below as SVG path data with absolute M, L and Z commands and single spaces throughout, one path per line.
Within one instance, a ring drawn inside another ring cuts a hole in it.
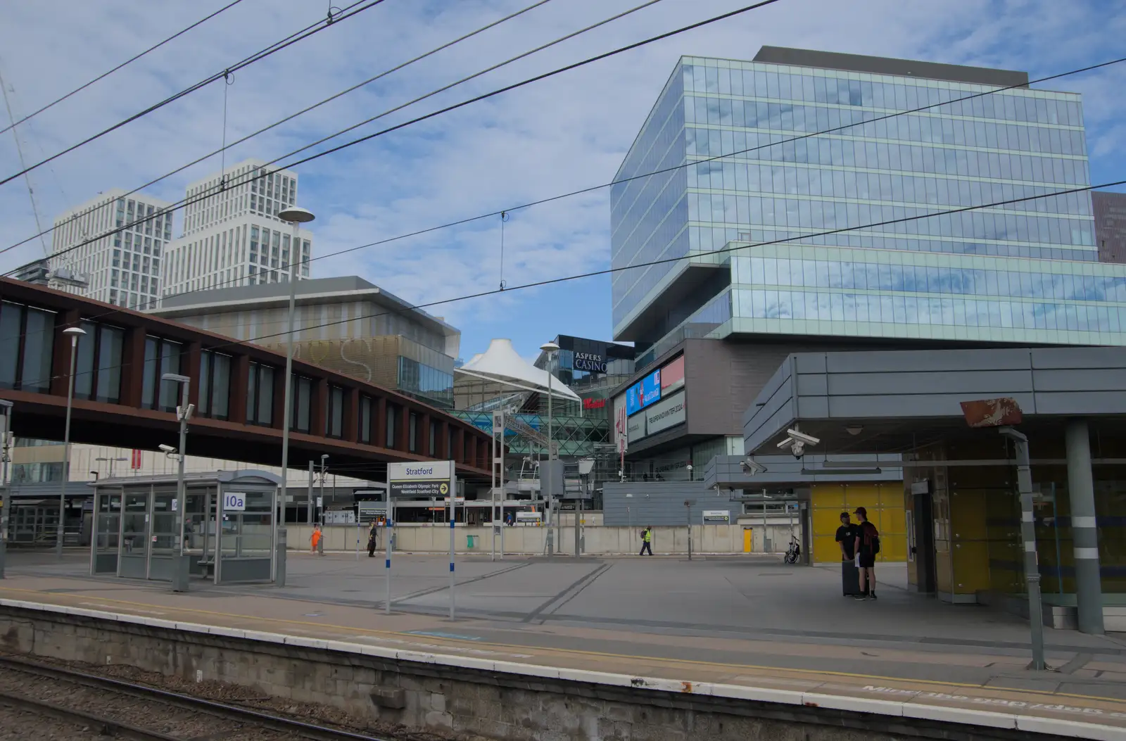
M 86 285 L 52 283 L 52 287 L 129 309 L 155 307 L 161 259 L 172 239 L 170 206 L 115 188 L 56 217 L 51 270 L 84 274 Z

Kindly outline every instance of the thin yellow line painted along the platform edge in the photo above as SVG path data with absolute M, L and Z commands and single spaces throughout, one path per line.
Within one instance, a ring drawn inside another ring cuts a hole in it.
M 18 589 L 18 588 L 15 588 L 15 587 L 0 587 L 0 591 L 20 592 L 20 593 L 25 593 L 25 595 L 38 595 L 41 597 L 43 596 L 43 592 L 41 592 L 38 590 L 35 590 L 35 589 Z M 881 681 L 909 682 L 909 684 L 915 684 L 915 685 L 936 685 L 936 686 L 939 686 L 939 687 L 963 687 L 963 688 L 969 688 L 969 689 L 992 689 L 992 690 L 995 690 L 995 691 L 1029 694 L 1029 695 L 1044 695 L 1044 696 L 1048 696 L 1048 697 L 1074 697 L 1074 698 L 1079 698 L 1079 699 L 1097 699 L 1097 700 L 1105 700 L 1105 702 L 1109 702 L 1109 703 L 1124 703 L 1124 702 L 1126 702 L 1126 700 L 1123 700 L 1119 697 L 1103 697 L 1103 696 L 1100 696 L 1100 695 L 1080 695 L 1080 694 L 1074 694 L 1074 693 L 1052 693 L 1052 691 L 1044 690 L 1044 689 L 1015 689 L 1015 688 L 1008 688 L 1008 687 L 985 687 L 984 685 L 975 685 L 973 682 L 944 681 L 944 680 L 939 680 L 939 679 L 912 679 L 910 677 L 887 677 L 887 676 L 883 676 L 883 675 L 865 675 L 865 673 L 857 673 L 857 672 L 849 672 L 849 671 L 832 671 L 832 670 L 828 670 L 828 669 L 790 669 L 790 668 L 787 668 L 787 667 L 771 667 L 771 666 L 767 666 L 767 664 L 721 663 L 721 662 L 716 662 L 716 661 L 700 661 L 700 660 L 697 660 L 697 659 L 676 659 L 676 658 L 671 658 L 671 657 L 670 658 L 665 658 L 665 657 L 642 657 L 642 655 L 634 655 L 634 654 L 627 654 L 627 653 L 607 653 L 607 652 L 604 652 L 604 651 L 584 651 L 582 649 L 555 649 L 555 648 L 547 648 L 547 646 L 540 648 L 540 646 L 520 645 L 518 643 L 490 643 L 490 642 L 471 641 L 471 640 L 465 640 L 465 639 L 454 639 L 454 637 L 445 637 L 445 636 L 441 636 L 441 637 L 437 637 L 437 636 L 420 636 L 418 633 L 408 633 L 408 632 L 403 632 L 403 631 L 379 631 L 379 630 L 376 630 L 376 628 L 356 627 L 356 626 L 351 626 L 351 625 L 334 625 L 334 624 L 331 624 L 331 623 L 311 623 L 309 621 L 293 621 L 293 619 L 288 619 L 288 618 L 266 617 L 266 616 L 259 616 L 259 615 L 241 615 L 239 613 L 221 613 L 221 611 L 217 611 L 217 610 L 205 610 L 205 609 L 197 609 L 197 608 L 194 608 L 194 607 L 169 607 L 167 605 L 154 605 L 152 602 L 134 602 L 134 601 L 124 600 L 124 599 L 110 599 L 108 597 L 84 597 L 83 598 L 83 597 L 81 597 L 79 595 L 59 595 L 59 593 L 52 593 L 52 597 L 96 599 L 96 600 L 104 601 L 104 602 L 114 602 L 116 605 L 126 605 L 126 606 L 129 606 L 129 607 L 144 608 L 144 609 L 161 608 L 161 609 L 168 609 L 168 610 L 177 610 L 177 611 L 181 611 L 181 613 L 193 613 L 193 614 L 197 614 L 197 615 L 213 615 L 213 616 L 216 616 L 216 617 L 233 617 L 233 618 L 240 618 L 240 619 L 247 619 L 247 621 L 265 621 L 265 622 L 269 622 L 269 623 L 282 623 L 282 624 L 285 624 L 285 625 L 304 625 L 304 626 L 307 626 L 307 627 L 333 628 L 333 630 L 338 630 L 338 631 L 351 631 L 354 633 L 368 633 L 368 634 L 373 634 L 373 635 L 386 635 L 386 636 L 393 636 L 393 637 L 396 637 L 396 639 L 417 640 L 419 637 L 427 637 L 427 639 L 436 640 L 436 641 L 445 641 L 445 642 L 449 642 L 449 643 L 464 643 L 464 644 L 474 645 L 474 646 L 491 646 L 491 648 L 494 648 L 494 649 L 540 651 L 540 652 L 544 652 L 544 653 L 557 653 L 557 654 L 564 654 L 564 655 L 572 654 L 572 655 L 581 655 L 581 657 L 625 659 L 625 660 L 633 660 L 633 661 L 645 662 L 645 663 L 678 663 L 678 664 L 688 664 L 688 666 L 695 666 L 695 667 L 712 667 L 712 668 L 729 669 L 729 670 L 731 670 L 731 669 L 752 669 L 752 670 L 759 670 L 759 671 L 785 671 L 785 672 L 790 672 L 790 673 L 798 675 L 798 676 L 812 675 L 814 677 L 844 677 L 844 678 L 849 678 L 849 679 L 872 679 L 872 680 L 881 680 Z M 51 602 L 41 602 L 41 604 L 50 605 Z M 144 616 L 143 615 L 138 615 L 137 617 L 144 617 Z

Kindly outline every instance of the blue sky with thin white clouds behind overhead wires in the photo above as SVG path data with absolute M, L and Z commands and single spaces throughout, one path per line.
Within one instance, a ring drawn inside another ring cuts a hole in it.
M 334 0 L 347 7 L 346 0 Z M 206 86 L 30 173 L 41 220 L 109 188 L 133 189 L 345 88 L 458 38 L 534 0 L 384 0 L 322 33 Z M 69 92 L 229 0 L 52 0 L 0 8 L 0 75 L 16 118 Z M 240 144 L 229 166 L 272 160 L 346 126 L 635 8 L 642 0 L 548 0 Z M 374 133 L 506 84 L 748 5 L 659 0 L 593 30 L 414 104 L 311 150 Z M 37 162 L 323 18 L 321 0 L 241 0 L 166 46 L 21 124 Z M 1073 0 L 780 0 L 458 110 L 296 168 L 300 205 L 316 214 L 314 257 L 441 224 L 500 216 L 316 260 L 314 277 L 360 275 L 415 303 L 509 291 L 428 309 L 462 330 L 465 358 L 491 338 L 527 358 L 556 334 L 613 339 L 608 276 L 549 287 L 524 283 L 609 266 L 602 188 L 530 208 L 521 204 L 606 185 L 681 55 L 750 60 L 762 45 L 1025 70 L 1035 79 L 1126 56 L 1126 8 Z M 1126 179 L 1126 63 L 1054 80 L 1083 93 L 1092 182 Z M 0 126 L 10 123 L 0 109 Z M 285 162 L 287 160 L 283 160 Z M 175 202 L 218 157 L 145 189 Z M 0 173 L 18 172 L 12 132 Z M 182 220 L 177 217 L 177 232 Z M 0 186 L 0 249 L 35 234 L 28 184 Z M 50 235 L 47 245 L 50 247 Z M 38 240 L 0 253 L 0 271 L 43 256 Z

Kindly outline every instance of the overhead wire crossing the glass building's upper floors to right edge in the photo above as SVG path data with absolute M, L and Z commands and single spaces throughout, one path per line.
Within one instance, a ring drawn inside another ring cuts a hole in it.
M 787 144 L 787 143 L 790 143 L 790 142 L 796 142 L 798 140 L 810 139 L 810 137 L 813 137 L 813 136 L 820 136 L 820 135 L 824 135 L 824 134 L 831 134 L 831 133 L 844 131 L 847 128 L 852 128 L 855 126 L 863 126 L 863 125 L 868 124 L 868 123 L 875 123 L 877 120 L 886 120 L 886 119 L 890 119 L 890 118 L 895 118 L 896 116 L 904 116 L 904 115 L 912 114 L 912 113 L 919 113 L 919 111 L 922 111 L 922 110 L 927 110 L 929 108 L 940 108 L 942 106 L 948 106 L 950 104 L 962 102 L 962 101 L 965 101 L 965 100 L 971 100 L 971 99 L 978 98 L 978 97 L 986 96 L 986 95 L 997 95 L 997 93 L 1003 92 L 1006 90 L 1012 90 L 1012 89 L 1017 89 L 1017 88 L 1027 88 L 1027 86 L 1029 86 L 1029 84 L 1036 84 L 1036 83 L 1039 83 L 1039 82 L 1045 82 L 1045 81 L 1048 81 L 1048 80 L 1055 80 L 1055 79 L 1069 77 L 1069 75 L 1072 75 L 1072 74 L 1079 74 L 1079 73 L 1082 73 L 1082 72 L 1089 72 L 1091 70 L 1096 70 L 1096 69 L 1109 66 L 1109 65 L 1112 65 L 1112 64 L 1118 64 L 1118 63 L 1121 63 L 1121 62 L 1126 62 L 1126 57 L 1119 57 L 1119 59 L 1110 60 L 1110 61 L 1107 61 L 1107 62 L 1100 62 L 1098 64 L 1091 64 L 1091 65 L 1079 68 L 1079 69 L 1075 69 L 1075 70 L 1069 70 L 1066 72 L 1058 72 L 1058 73 L 1051 74 L 1051 75 L 1047 75 L 1047 77 L 1044 77 L 1044 78 L 1031 80 L 1028 83 L 1012 84 L 1012 86 L 1007 86 L 1007 87 L 1003 87 L 1003 88 L 997 88 L 997 89 L 988 90 L 988 91 L 983 91 L 983 92 L 974 92 L 974 93 L 971 93 L 971 95 L 966 95 L 966 96 L 963 96 L 963 97 L 959 97 L 959 98 L 953 98 L 950 100 L 945 100 L 945 101 L 941 101 L 941 102 L 930 104 L 930 105 L 927 105 L 927 106 L 920 106 L 920 107 L 917 107 L 917 108 L 909 108 L 909 109 L 905 109 L 905 110 L 899 110 L 899 111 L 895 111 L 895 113 L 885 114 L 883 116 L 877 116 L 875 118 L 867 118 L 867 119 L 861 120 L 861 122 L 851 123 L 851 124 L 843 124 L 841 126 L 834 126 L 834 127 L 822 130 L 822 131 L 817 131 L 817 132 L 810 132 L 810 133 L 806 133 L 806 134 L 798 134 L 798 135 L 795 135 L 795 136 L 792 136 L 792 137 L 788 137 L 788 139 L 780 139 L 780 140 L 775 141 L 775 142 L 769 142 L 767 144 L 759 144 L 759 145 L 750 146 L 750 148 L 747 148 L 747 149 L 743 149 L 743 150 L 736 150 L 736 151 L 733 151 L 733 152 L 726 152 L 724 154 L 717 154 L 717 155 L 714 155 L 714 157 L 701 158 L 701 159 L 698 159 L 698 160 L 694 160 L 691 162 L 683 162 L 683 163 L 680 163 L 680 164 L 674 164 L 674 166 L 671 166 L 671 167 L 668 167 L 668 168 L 662 168 L 660 170 L 654 170 L 654 171 L 651 171 L 651 172 L 642 172 L 642 173 L 638 173 L 638 175 L 635 175 L 635 176 L 631 176 L 631 177 L 627 177 L 627 178 L 622 178 L 622 179 L 618 179 L 618 180 L 611 180 L 610 182 L 605 182 L 605 184 L 597 185 L 597 186 L 589 186 L 587 188 L 580 188 L 578 190 L 571 190 L 569 193 L 564 193 L 564 194 L 560 194 L 560 195 L 555 195 L 555 196 L 549 196 L 547 198 L 542 198 L 539 200 L 528 202 L 528 203 L 525 203 L 525 204 L 521 204 L 521 205 L 518 205 L 518 206 L 512 206 L 509 209 L 493 211 L 493 212 L 490 212 L 490 213 L 486 213 L 486 214 L 481 214 L 481 215 L 477 215 L 477 216 L 470 216 L 470 217 L 466 217 L 466 218 L 461 218 L 461 220 L 456 220 L 456 221 L 452 221 L 452 222 L 446 222 L 444 224 L 438 224 L 436 226 L 429 226 L 429 227 L 417 230 L 417 231 L 413 231 L 413 232 L 408 232 L 408 233 L 399 234 L 399 235 L 395 235 L 395 236 L 388 236 L 388 238 L 385 238 L 383 240 L 377 240 L 375 242 L 368 242 L 367 244 L 359 244 L 357 247 L 346 248 L 343 250 L 338 250 L 336 252 L 330 252 L 328 255 L 321 255 L 321 256 L 318 256 L 315 258 L 310 258 L 307 260 L 302 260 L 301 265 L 307 265 L 310 262 L 315 262 L 316 260 L 328 259 L 328 258 L 331 258 L 331 257 L 339 257 L 341 255 L 347 255 L 349 252 L 355 252 L 355 251 L 363 250 L 363 249 L 369 249 L 369 248 L 373 248 L 373 247 L 379 247 L 379 245 L 383 245 L 383 244 L 387 244 L 387 243 L 391 243 L 391 242 L 400 241 L 400 240 L 403 240 L 403 239 L 409 239 L 411 236 L 419 236 L 419 235 L 427 234 L 427 233 L 435 232 L 435 231 L 439 231 L 439 230 L 443 230 L 443 229 L 449 229 L 449 227 L 453 227 L 453 226 L 459 226 L 459 225 L 468 224 L 468 223 L 472 223 L 474 221 L 479 221 L 479 220 L 482 220 L 482 218 L 489 218 L 489 217 L 495 216 L 498 214 L 502 215 L 502 218 L 503 218 L 503 215 L 508 214 L 509 211 L 517 211 L 517 209 L 522 209 L 522 208 L 529 208 L 529 207 L 537 206 L 537 205 L 540 205 L 540 204 L 546 204 L 546 203 L 551 203 L 551 202 L 554 202 L 554 200 L 560 200 L 562 198 L 569 198 L 569 197 L 577 196 L 577 195 L 592 193 L 592 191 L 599 190 L 601 188 L 608 188 L 608 187 L 611 187 L 611 186 L 615 186 L 615 185 L 620 185 L 620 184 L 624 184 L 624 182 L 629 182 L 629 181 L 638 180 L 638 179 L 642 179 L 642 178 L 649 178 L 649 177 L 653 177 L 653 176 L 656 176 L 656 175 L 663 175 L 665 172 L 671 172 L 671 171 L 674 171 L 674 170 L 678 170 L 678 169 L 681 169 L 681 168 L 688 168 L 688 167 L 692 167 L 692 166 L 696 166 L 696 164 L 701 164 L 701 163 L 707 163 L 707 162 L 714 162 L 714 161 L 722 160 L 722 159 L 730 158 L 730 157 L 734 157 L 734 155 L 738 155 L 738 154 L 745 154 L 748 152 L 753 152 L 753 151 L 758 151 L 758 150 L 762 150 L 762 149 L 768 149 L 770 146 L 780 146 L 780 145 L 784 145 L 784 144 Z M 503 227 L 503 224 L 502 224 L 502 227 Z M 226 285 L 227 283 L 236 283 L 236 282 L 240 282 L 240 280 L 241 280 L 241 278 L 233 278 L 231 280 L 221 282 L 217 285 L 222 286 L 222 285 Z M 180 292 L 178 294 L 171 294 L 169 296 L 164 296 L 163 298 L 170 298 L 170 297 L 175 297 L 175 296 L 181 296 L 181 295 L 186 295 L 188 293 L 194 293 L 194 292 L 191 292 L 191 291 L 184 291 L 184 292 Z M 99 314 L 98 316 L 106 316 L 106 315 L 116 313 L 118 311 L 120 311 L 120 310 L 113 310 L 113 311 L 106 312 L 105 314 Z

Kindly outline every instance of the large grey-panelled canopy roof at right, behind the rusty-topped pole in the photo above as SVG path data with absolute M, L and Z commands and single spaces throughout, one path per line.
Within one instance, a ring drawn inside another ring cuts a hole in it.
M 1021 348 L 798 352 L 743 416 L 749 454 L 778 454 L 786 430 L 821 438 L 820 454 L 894 453 L 981 435 L 960 402 L 1009 396 L 1019 429 L 1083 417 L 1094 429 L 1126 422 L 1126 348 Z

